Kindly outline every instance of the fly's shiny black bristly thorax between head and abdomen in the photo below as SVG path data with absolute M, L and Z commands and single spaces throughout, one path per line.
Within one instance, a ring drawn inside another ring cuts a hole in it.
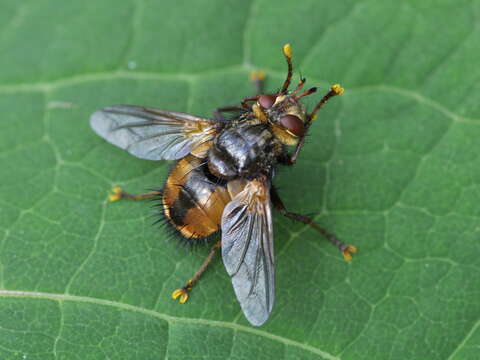
M 220 178 L 250 178 L 270 173 L 282 145 L 265 123 L 247 120 L 225 128 L 208 152 L 210 172 Z

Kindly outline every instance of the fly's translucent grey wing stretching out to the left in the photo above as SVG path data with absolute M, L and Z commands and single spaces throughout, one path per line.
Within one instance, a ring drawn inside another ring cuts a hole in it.
M 209 119 L 129 105 L 96 111 L 90 126 L 113 145 L 147 160 L 180 159 L 215 134 Z

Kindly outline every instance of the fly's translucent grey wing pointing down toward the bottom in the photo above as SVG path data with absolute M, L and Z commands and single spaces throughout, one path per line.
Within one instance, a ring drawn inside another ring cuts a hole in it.
M 222 215 L 222 258 L 245 317 L 260 326 L 275 298 L 269 185 L 250 181 Z

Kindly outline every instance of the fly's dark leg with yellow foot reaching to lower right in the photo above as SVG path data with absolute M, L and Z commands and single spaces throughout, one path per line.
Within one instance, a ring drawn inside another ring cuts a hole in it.
M 285 208 L 285 205 L 283 205 L 282 199 L 280 199 L 280 196 L 278 195 L 277 191 L 275 188 L 272 186 L 270 190 L 270 196 L 272 199 L 273 206 L 280 211 L 280 213 L 283 216 L 288 217 L 289 219 L 300 221 L 308 226 L 311 226 L 315 230 L 317 230 L 319 233 L 321 233 L 328 241 L 332 243 L 333 246 L 338 248 L 338 250 L 341 251 L 343 254 L 343 258 L 346 261 L 352 260 L 352 254 L 357 252 L 357 248 L 353 245 L 347 245 L 337 239 L 337 237 L 331 233 L 329 233 L 327 230 L 322 228 L 320 225 L 318 225 L 316 222 L 314 222 L 312 219 L 310 219 L 308 216 L 300 215 L 300 214 L 295 214 L 287 211 Z

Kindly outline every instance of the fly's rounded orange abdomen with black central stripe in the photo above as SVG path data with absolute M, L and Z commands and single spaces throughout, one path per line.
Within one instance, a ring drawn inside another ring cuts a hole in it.
M 231 200 L 226 186 L 206 171 L 205 159 L 188 155 L 177 162 L 163 190 L 165 217 L 186 238 L 205 238 L 218 231 Z

